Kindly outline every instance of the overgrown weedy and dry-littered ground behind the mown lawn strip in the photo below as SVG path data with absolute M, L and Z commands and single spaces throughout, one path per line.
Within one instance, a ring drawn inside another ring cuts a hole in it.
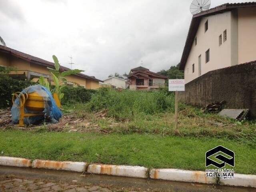
M 2 129 L 25 129 L 36 132 L 139 133 L 256 141 L 254 121 L 238 122 L 217 114 L 204 113 L 185 104 L 179 104 L 177 131 L 174 129 L 173 101 L 174 96 L 164 91 L 115 92 L 102 89 L 86 104 L 72 102 L 63 106 L 63 116 L 57 124 L 44 122 L 39 126 L 20 128 L 3 123 Z M 10 121 L 10 113 L 0 111 L 0 115 L 9 118 L 2 122 Z

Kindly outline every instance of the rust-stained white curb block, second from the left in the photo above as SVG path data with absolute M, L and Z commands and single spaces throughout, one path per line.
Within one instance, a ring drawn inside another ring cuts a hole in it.
M 72 161 L 48 161 L 48 160 L 34 160 L 32 168 L 65 170 L 73 172 L 84 172 L 88 164 L 86 162 L 72 162 Z

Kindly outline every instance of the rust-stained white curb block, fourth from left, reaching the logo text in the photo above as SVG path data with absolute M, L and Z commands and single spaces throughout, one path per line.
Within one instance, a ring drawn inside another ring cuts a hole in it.
M 190 171 L 181 169 L 151 169 L 149 175 L 152 179 L 206 184 L 216 183 L 216 178 L 206 177 L 204 171 Z

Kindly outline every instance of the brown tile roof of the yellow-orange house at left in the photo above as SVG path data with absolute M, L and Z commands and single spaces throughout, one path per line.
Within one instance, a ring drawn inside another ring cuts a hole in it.
M 14 50 L 14 49 L 6 47 L 6 46 L 0 45 L 0 52 L 11 54 L 12 56 L 21 58 L 23 60 L 26 60 L 28 62 L 32 62 L 34 64 L 38 64 L 38 65 L 42 65 L 42 66 L 46 66 L 46 67 L 51 67 L 51 68 L 54 67 L 54 63 L 52 63 L 52 62 L 43 60 L 43 59 L 38 58 L 38 57 L 34 57 L 32 55 Z M 64 66 L 60 66 L 60 71 L 66 71 L 66 70 L 69 70 L 69 68 L 64 67 Z M 82 74 L 82 73 L 77 73 L 77 74 L 74 74 L 74 75 L 82 77 L 82 78 L 94 80 L 94 81 L 103 82 L 102 80 L 96 79 L 94 76 L 88 76 L 88 75 L 85 75 L 85 74 Z

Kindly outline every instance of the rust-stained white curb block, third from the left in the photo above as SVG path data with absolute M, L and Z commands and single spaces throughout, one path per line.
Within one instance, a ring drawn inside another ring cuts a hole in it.
M 148 169 L 140 166 L 91 164 L 88 166 L 87 172 L 94 174 L 147 178 Z

